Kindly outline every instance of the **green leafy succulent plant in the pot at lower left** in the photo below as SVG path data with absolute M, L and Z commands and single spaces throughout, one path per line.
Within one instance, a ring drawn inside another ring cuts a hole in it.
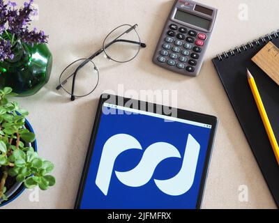
M 12 95 L 9 87 L 0 90 L 0 203 L 22 186 L 47 190 L 55 184 L 49 175 L 54 164 L 38 157 L 32 146 L 35 134 L 26 120 L 28 112 L 8 101 Z

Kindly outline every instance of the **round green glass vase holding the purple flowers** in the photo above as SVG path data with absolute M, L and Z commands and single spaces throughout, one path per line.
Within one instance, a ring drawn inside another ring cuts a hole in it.
M 17 40 L 13 59 L 0 62 L 0 88 L 10 86 L 19 96 L 37 93 L 50 79 L 52 54 L 46 44 Z

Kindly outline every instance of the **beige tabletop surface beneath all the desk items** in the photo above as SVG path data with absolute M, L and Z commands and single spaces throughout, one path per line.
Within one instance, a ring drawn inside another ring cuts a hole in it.
M 200 75 L 190 78 L 151 62 L 172 0 L 36 0 L 39 17 L 35 25 L 50 35 L 52 77 L 39 93 L 17 101 L 30 112 L 38 151 L 54 162 L 57 182 L 52 189 L 38 192 L 37 197 L 36 192 L 25 191 L 4 208 L 73 208 L 98 98 L 107 90 L 117 93 L 118 84 L 138 93 L 148 89 L 177 90 L 179 108 L 218 116 L 220 123 L 202 208 L 276 208 L 211 59 L 278 29 L 279 1 L 199 1 L 220 12 Z M 241 3 L 248 6 L 248 20 L 239 19 Z M 89 56 L 100 48 L 109 31 L 127 23 L 139 24 L 140 36 L 147 43 L 137 59 L 120 65 L 107 63 L 103 57 L 96 60 L 100 84 L 86 98 L 70 102 L 66 95 L 55 91 L 59 73 L 68 63 Z M 241 185 L 248 187 L 248 202 L 239 201 Z

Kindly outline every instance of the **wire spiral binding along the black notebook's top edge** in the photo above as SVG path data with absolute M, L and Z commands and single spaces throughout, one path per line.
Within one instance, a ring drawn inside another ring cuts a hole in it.
M 257 40 L 252 40 L 251 42 L 246 43 L 246 45 L 241 45 L 239 47 L 236 47 L 234 49 L 229 49 L 228 52 L 223 52 L 223 54 L 218 54 L 216 57 L 219 61 L 223 61 L 223 59 L 229 59 L 229 56 L 234 56 L 236 54 L 241 54 L 242 51 L 246 51 L 248 49 L 252 49 L 255 46 L 260 46 L 263 43 L 267 43 L 273 38 L 279 38 L 279 29 L 278 31 L 274 31 L 266 36 L 263 36 Z

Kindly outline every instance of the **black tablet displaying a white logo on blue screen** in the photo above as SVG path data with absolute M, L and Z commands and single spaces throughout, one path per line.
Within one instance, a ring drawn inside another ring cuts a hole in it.
M 218 120 L 104 94 L 75 208 L 200 208 Z

